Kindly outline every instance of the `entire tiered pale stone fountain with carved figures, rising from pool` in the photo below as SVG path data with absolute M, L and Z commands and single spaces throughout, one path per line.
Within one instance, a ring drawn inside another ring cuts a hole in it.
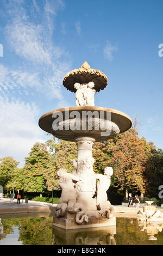
M 77 162 L 72 160 L 72 173 L 64 168 L 58 170 L 62 192 L 53 218 L 55 227 L 79 229 L 116 225 L 114 207 L 106 194 L 113 170 L 106 167 L 104 175 L 94 173 L 92 145 L 127 131 L 132 122 L 120 111 L 95 107 L 95 93 L 107 84 L 108 78 L 103 72 L 91 69 L 85 62 L 81 68 L 68 72 L 63 80 L 64 87 L 76 93 L 76 107 L 60 108 L 39 119 L 42 130 L 59 139 L 76 142 L 78 150 Z

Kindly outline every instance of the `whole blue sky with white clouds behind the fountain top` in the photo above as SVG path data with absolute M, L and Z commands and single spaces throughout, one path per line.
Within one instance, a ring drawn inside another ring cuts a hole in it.
M 38 120 L 75 106 L 62 79 L 85 60 L 108 77 L 95 106 L 139 115 L 140 137 L 163 149 L 162 8 L 162 0 L 2 0 L 0 157 L 23 166 L 32 145 L 47 140 Z

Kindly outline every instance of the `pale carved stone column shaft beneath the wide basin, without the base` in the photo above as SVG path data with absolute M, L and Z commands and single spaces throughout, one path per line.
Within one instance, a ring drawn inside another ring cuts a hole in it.
M 96 210 L 96 200 L 93 195 L 96 191 L 96 176 L 93 171 L 94 159 L 92 157 L 92 145 L 95 142 L 91 137 L 76 138 L 78 150 L 78 167 L 77 174 L 79 181 L 77 182 L 78 197 L 77 201 L 81 201 L 85 205 L 89 205 L 92 210 Z

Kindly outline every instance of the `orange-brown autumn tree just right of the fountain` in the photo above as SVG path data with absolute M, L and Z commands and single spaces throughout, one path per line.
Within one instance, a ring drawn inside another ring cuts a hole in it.
M 121 133 L 112 148 L 110 164 L 114 168 L 115 186 L 118 190 L 145 192 L 144 171 L 148 159 L 146 143 L 130 129 Z

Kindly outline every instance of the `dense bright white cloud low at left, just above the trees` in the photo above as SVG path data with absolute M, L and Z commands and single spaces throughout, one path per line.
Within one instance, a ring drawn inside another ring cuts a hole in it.
M 35 103 L 0 100 L 0 155 L 12 156 L 23 166 L 33 144 L 45 142 L 37 125 L 39 111 Z

